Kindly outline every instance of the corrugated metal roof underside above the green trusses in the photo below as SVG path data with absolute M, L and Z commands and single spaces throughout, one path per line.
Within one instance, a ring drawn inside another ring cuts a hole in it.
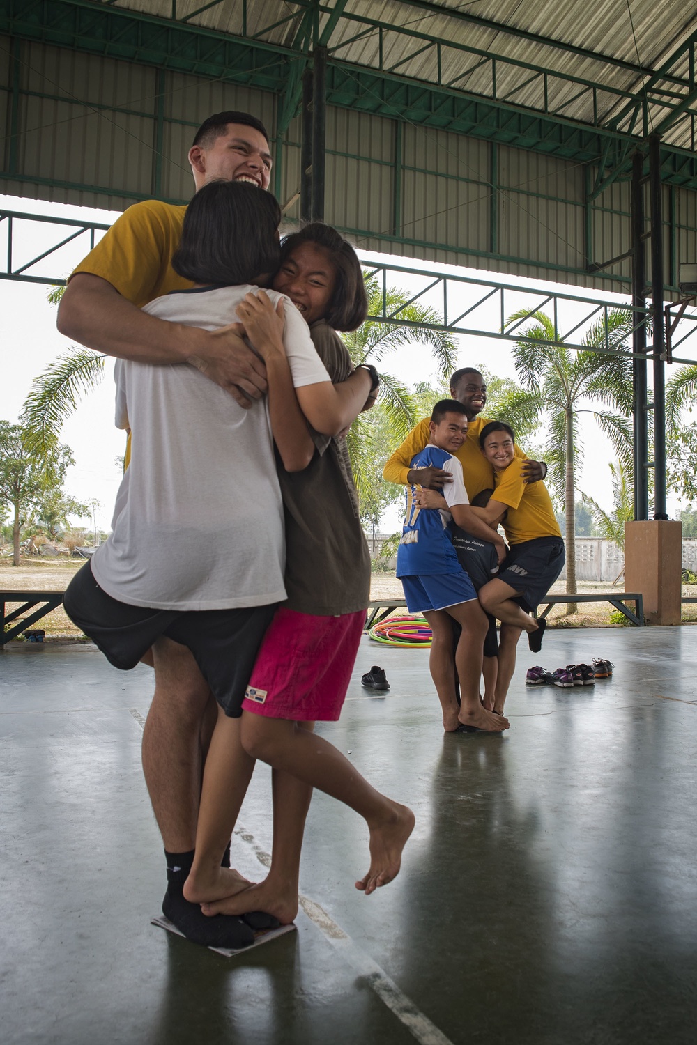
M 165 19 L 172 16 L 172 0 L 116 0 L 113 6 Z M 292 47 L 298 46 L 299 27 L 309 4 L 247 0 L 246 26 L 241 2 L 222 0 L 205 10 L 201 10 L 202 6 L 196 0 L 176 0 L 177 18 L 233 36 L 242 36 L 246 28 L 248 36 Z M 330 0 L 323 3 L 320 32 L 330 18 L 326 8 L 332 6 Z M 369 26 L 355 20 L 361 18 L 382 23 L 386 31 L 381 34 L 368 31 Z M 403 31 L 390 31 L 391 28 Z M 449 84 L 452 90 L 486 98 L 493 93 L 491 63 L 479 64 L 475 55 L 457 50 L 458 45 L 479 49 L 483 55 L 496 54 L 536 65 L 549 70 L 547 85 L 541 76 L 531 82 L 531 70 L 525 67 L 498 63 L 496 97 L 583 123 L 594 124 L 598 120 L 604 124 L 626 104 L 612 90 L 642 97 L 650 86 L 652 71 L 658 70 L 696 29 L 697 4 L 676 0 L 526 0 L 525 3 L 480 0 L 466 5 L 459 0 L 441 0 L 438 4 L 426 0 L 348 0 L 331 32 L 329 47 L 336 61 L 392 70 L 401 77 L 429 84 Z M 354 40 L 362 30 L 367 31 Z M 526 39 L 516 32 L 538 39 Z M 440 54 L 435 46 L 421 51 L 426 41 L 419 39 L 419 34 L 439 38 L 455 47 L 443 46 Z M 590 54 L 573 53 L 564 47 Z M 618 62 L 628 67 L 622 68 Z M 577 88 L 566 79 L 556 78 L 554 73 L 587 80 L 599 91 L 595 97 L 590 91 L 577 97 L 582 85 Z M 676 95 L 673 102 L 679 101 L 690 91 L 687 56 L 676 63 L 670 74 L 672 78 L 658 86 L 672 90 Z M 682 83 L 675 83 L 675 78 Z M 669 100 L 665 93 L 661 97 Z M 657 94 L 649 100 L 651 131 L 658 126 L 668 109 L 658 102 Z M 629 130 L 630 123 L 631 115 L 627 114 L 620 129 Z M 666 132 L 665 140 L 691 147 L 691 130 L 689 121 L 682 121 Z

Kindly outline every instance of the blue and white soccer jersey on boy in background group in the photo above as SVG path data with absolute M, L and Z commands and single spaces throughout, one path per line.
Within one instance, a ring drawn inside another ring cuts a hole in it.
M 462 465 L 447 450 L 431 443 L 412 459 L 412 468 L 433 465 L 452 475 L 443 487 L 448 505 L 467 505 L 467 491 L 462 478 Z M 406 487 L 406 518 L 397 550 L 397 577 L 419 577 L 426 574 L 449 574 L 461 571 L 458 556 L 446 529 L 449 512 L 421 509 L 416 506 L 419 487 Z

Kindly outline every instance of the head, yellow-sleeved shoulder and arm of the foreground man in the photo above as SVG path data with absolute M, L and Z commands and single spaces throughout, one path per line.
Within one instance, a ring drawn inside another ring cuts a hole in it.
M 266 189 L 269 135 L 249 113 L 216 113 L 202 123 L 188 154 L 196 190 L 206 182 L 247 181 Z M 167 323 L 142 306 L 190 283 L 170 264 L 185 207 L 159 200 L 134 204 L 75 269 L 59 309 L 61 333 L 119 359 L 190 363 L 241 407 L 266 392 L 264 366 L 231 328 Z

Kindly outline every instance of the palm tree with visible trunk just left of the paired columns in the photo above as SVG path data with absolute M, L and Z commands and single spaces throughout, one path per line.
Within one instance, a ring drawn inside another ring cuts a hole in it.
M 566 543 L 566 586 L 576 590 L 576 477 L 583 447 L 578 418 L 589 413 L 609 438 L 619 460 L 629 467 L 632 452 L 632 362 L 621 350 L 631 333 L 631 314 L 608 309 L 583 338 L 588 348 L 617 350 L 611 354 L 566 348 L 557 335 L 553 320 L 544 312 L 522 309 L 507 325 L 531 319 L 516 341 L 515 368 L 524 388 L 506 403 L 505 419 L 515 428 L 530 425 L 540 415 L 547 417 L 550 482 L 564 506 Z M 601 408 L 591 404 L 600 403 Z M 588 403 L 588 405 L 583 405 Z M 568 603 L 567 613 L 577 611 Z

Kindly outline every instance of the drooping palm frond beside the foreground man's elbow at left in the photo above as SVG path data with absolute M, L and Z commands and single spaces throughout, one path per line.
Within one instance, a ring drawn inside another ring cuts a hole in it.
M 103 377 L 104 359 L 89 348 L 75 346 L 33 378 L 21 421 L 36 452 L 45 454 L 55 445 L 66 419 Z

